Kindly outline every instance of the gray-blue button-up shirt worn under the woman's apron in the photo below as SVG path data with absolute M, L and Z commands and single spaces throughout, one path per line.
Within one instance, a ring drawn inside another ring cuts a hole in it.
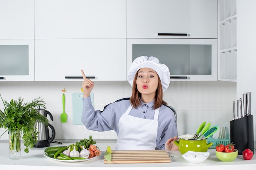
M 149 103 L 143 103 L 137 109 L 132 108 L 131 116 L 152 119 L 154 118 L 155 110 L 153 109 L 154 100 Z M 89 130 L 99 132 L 114 130 L 119 133 L 118 123 L 120 117 L 126 112 L 130 106 L 130 100 L 124 99 L 111 104 L 108 104 L 103 111 L 94 110 L 91 98 L 83 98 L 83 114 L 81 121 Z M 177 136 L 177 126 L 173 110 L 168 106 L 162 105 L 159 109 L 158 128 L 156 146 L 159 150 L 165 149 L 165 142 L 170 137 Z

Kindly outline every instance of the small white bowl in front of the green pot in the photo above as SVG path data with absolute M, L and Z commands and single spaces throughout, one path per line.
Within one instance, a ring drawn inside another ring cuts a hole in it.
M 184 159 L 191 163 L 202 163 L 205 161 L 210 155 L 210 152 L 193 152 L 188 151 L 182 155 Z

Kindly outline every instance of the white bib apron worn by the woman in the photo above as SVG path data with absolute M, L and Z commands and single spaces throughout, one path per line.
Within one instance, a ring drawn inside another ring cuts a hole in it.
M 119 133 L 115 149 L 155 150 L 159 108 L 155 110 L 153 120 L 130 116 L 130 110 L 132 110 L 131 105 L 119 120 Z

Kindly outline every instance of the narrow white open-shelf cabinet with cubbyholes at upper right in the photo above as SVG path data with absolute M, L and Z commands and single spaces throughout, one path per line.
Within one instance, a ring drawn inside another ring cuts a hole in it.
M 236 0 L 219 0 L 218 8 L 218 79 L 236 82 Z

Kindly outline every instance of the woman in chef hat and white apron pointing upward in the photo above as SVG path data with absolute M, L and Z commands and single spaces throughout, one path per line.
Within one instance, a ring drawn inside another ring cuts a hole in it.
M 173 111 L 163 101 L 170 83 L 170 72 L 156 57 L 141 56 L 132 62 L 128 81 L 130 98 L 120 99 L 94 110 L 90 92 L 94 82 L 83 73 L 83 114 L 81 121 L 89 130 L 115 130 L 116 150 L 178 150 L 177 126 Z

